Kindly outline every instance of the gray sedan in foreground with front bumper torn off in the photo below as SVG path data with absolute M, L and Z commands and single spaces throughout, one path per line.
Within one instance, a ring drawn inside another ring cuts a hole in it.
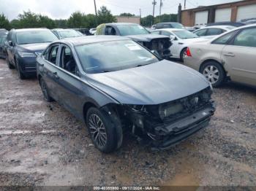
M 45 100 L 83 120 L 102 152 L 121 147 L 127 132 L 168 149 L 206 127 L 215 111 L 203 75 L 119 36 L 53 42 L 37 57 L 37 77 Z

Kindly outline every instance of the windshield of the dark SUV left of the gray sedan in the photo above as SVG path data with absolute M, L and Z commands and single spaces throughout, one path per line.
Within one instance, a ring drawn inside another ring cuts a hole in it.
M 48 30 L 43 31 L 20 31 L 16 34 L 17 44 L 34 44 L 53 42 L 58 38 Z

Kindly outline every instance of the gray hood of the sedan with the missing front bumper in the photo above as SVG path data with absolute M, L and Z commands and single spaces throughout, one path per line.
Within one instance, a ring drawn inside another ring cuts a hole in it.
M 94 87 L 121 104 L 161 104 L 209 86 L 199 72 L 170 61 L 159 61 L 121 71 L 88 74 Z

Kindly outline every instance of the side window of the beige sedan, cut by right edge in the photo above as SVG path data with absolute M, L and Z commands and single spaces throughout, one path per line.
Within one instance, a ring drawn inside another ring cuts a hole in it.
M 234 39 L 234 45 L 256 47 L 256 28 L 247 28 L 241 31 Z

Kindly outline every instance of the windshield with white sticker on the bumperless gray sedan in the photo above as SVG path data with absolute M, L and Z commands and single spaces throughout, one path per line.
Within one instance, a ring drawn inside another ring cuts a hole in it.
M 143 66 L 159 61 L 131 40 L 97 42 L 75 47 L 86 73 L 102 73 Z

